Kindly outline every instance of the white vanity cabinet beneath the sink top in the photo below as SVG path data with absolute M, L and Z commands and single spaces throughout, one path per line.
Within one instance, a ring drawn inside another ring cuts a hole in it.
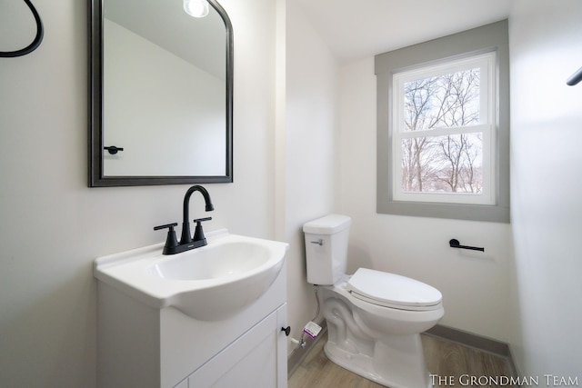
M 232 317 L 204 321 L 98 282 L 100 388 L 286 388 L 286 266 Z

